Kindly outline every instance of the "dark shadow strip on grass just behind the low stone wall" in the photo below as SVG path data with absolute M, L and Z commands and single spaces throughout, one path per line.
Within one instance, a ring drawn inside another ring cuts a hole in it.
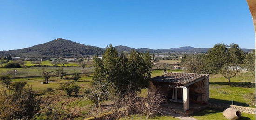
M 220 99 L 210 98 L 209 102 L 215 103 L 215 104 L 218 104 L 218 105 L 224 105 L 224 106 L 232 105 L 232 100 L 227 101 L 227 100 L 220 100 Z M 243 103 L 243 102 L 238 102 L 238 101 L 234 101 L 234 105 L 249 107 L 249 104 Z

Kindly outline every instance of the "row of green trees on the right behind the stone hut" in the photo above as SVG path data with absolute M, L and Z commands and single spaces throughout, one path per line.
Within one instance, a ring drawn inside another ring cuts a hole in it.
M 238 44 L 219 43 L 207 54 L 184 55 L 181 65 L 190 73 L 221 73 L 229 80 L 230 86 L 230 78 L 240 71 L 255 71 L 255 50 L 245 53 Z

